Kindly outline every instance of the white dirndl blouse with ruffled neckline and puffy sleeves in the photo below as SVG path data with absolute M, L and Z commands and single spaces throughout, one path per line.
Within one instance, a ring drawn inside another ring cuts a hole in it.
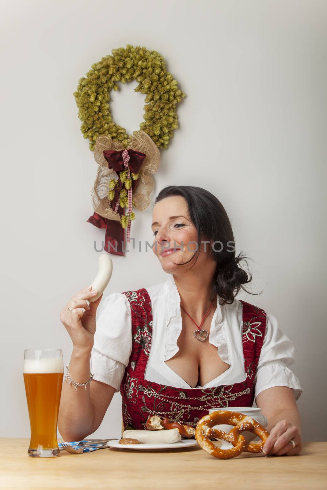
M 178 351 L 177 339 L 182 329 L 180 296 L 173 274 L 165 282 L 145 288 L 152 305 L 152 342 L 144 378 L 175 388 L 189 386 L 167 366 Z M 222 361 L 230 365 L 225 372 L 197 388 L 213 388 L 245 381 L 242 345 L 242 303 L 219 304 L 211 321 L 209 342 L 217 347 Z M 123 293 L 112 293 L 102 299 L 97 316 L 97 330 L 91 354 L 93 379 L 106 383 L 118 392 L 132 349 L 131 312 Z M 277 320 L 267 314 L 264 342 L 254 378 L 254 396 L 274 386 L 293 388 L 298 399 L 302 389 L 298 378 L 289 369 L 294 363 L 294 347 L 278 328 Z

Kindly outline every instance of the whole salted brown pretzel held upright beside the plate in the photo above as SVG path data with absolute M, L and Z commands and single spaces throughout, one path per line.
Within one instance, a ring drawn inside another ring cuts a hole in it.
M 212 428 L 219 424 L 235 425 L 235 427 L 228 433 Z M 243 431 L 253 432 L 253 434 L 260 437 L 261 441 L 249 443 L 245 437 L 241 435 L 241 432 Z M 248 417 L 238 412 L 229 412 L 227 410 L 218 410 L 209 415 L 205 415 L 199 420 L 195 429 L 195 438 L 201 448 L 215 458 L 220 459 L 235 458 L 243 451 L 260 453 L 268 436 L 269 432 L 252 417 Z M 210 441 L 212 438 L 230 442 L 234 447 L 230 449 L 220 449 Z

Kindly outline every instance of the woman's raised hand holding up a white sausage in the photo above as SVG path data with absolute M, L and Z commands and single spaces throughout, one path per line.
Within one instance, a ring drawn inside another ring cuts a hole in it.
M 74 347 L 82 350 L 92 350 L 96 331 L 96 313 L 102 298 L 101 294 L 89 305 L 86 300 L 98 293 L 97 290 L 91 291 L 91 288 L 92 286 L 89 286 L 78 291 L 60 312 L 60 321 L 69 333 Z

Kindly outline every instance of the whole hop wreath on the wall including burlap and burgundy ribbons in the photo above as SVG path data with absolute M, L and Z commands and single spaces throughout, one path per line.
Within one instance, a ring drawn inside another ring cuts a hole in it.
M 109 101 L 111 89 L 119 90 L 118 82 L 131 80 L 138 82 L 135 92 L 146 95 L 146 105 L 140 129 L 128 135 L 113 121 Z M 74 92 L 81 132 L 99 164 L 92 191 L 95 212 L 88 221 L 106 228 L 104 249 L 110 253 L 124 255 L 124 229 L 130 242 L 130 225 L 135 219 L 132 209 L 142 210 L 150 204 L 159 148 L 168 147 L 178 127 L 176 104 L 185 97 L 177 85 L 157 51 L 127 45 L 94 63 Z

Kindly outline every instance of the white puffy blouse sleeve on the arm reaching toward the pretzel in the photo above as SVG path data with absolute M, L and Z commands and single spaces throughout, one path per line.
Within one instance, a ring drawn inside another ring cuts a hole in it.
M 277 319 L 267 314 L 266 332 L 255 374 L 254 396 L 274 386 L 293 388 L 295 399 L 302 394 L 300 382 L 289 368 L 295 361 L 294 346 L 278 328 Z

